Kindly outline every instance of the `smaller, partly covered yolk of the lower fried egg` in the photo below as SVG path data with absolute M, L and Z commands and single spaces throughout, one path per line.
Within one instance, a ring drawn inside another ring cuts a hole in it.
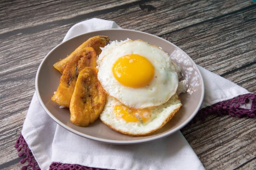
M 126 122 L 138 122 L 144 123 L 150 119 L 150 110 L 127 108 L 124 105 L 114 106 L 114 113 L 117 117 L 124 119 Z

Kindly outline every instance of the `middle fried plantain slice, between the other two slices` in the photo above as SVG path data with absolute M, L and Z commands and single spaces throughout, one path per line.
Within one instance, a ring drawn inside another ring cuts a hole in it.
M 96 57 L 96 51 L 92 47 L 86 47 L 83 50 L 77 51 L 74 57 L 67 63 L 58 89 L 52 96 L 52 101 L 60 106 L 69 107 L 80 71 L 85 67 L 96 67 Z

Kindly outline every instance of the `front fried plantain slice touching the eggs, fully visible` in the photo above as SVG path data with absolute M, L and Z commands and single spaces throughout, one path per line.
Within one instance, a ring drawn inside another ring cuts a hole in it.
M 88 126 L 99 118 L 106 94 L 97 78 L 97 68 L 85 67 L 78 75 L 70 102 L 70 121 L 76 126 Z

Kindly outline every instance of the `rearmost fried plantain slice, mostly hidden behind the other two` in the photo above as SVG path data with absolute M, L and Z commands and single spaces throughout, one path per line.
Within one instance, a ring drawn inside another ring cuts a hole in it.
M 78 53 L 85 47 L 92 47 L 96 50 L 97 55 L 99 55 L 101 53 L 100 47 L 106 46 L 109 41 L 110 41 L 110 39 L 108 38 L 108 36 L 104 36 L 104 35 L 98 35 L 98 36 L 89 38 L 87 41 L 83 42 L 83 44 L 81 44 L 79 47 L 77 47 L 77 49 L 75 51 L 73 51 L 70 55 L 68 55 L 63 60 L 59 60 L 53 66 L 59 72 L 63 73 L 64 68 L 67 65 L 68 61 L 70 61 L 71 58 L 73 58 L 76 55 L 76 53 Z

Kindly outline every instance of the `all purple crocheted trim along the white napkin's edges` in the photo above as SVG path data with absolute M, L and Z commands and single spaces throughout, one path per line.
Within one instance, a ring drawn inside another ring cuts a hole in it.
M 199 110 L 198 114 L 201 115 L 202 119 L 209 114 L 217 114 L 217 115 L 230 115 L 230 116 L 238 116 L 238 117 L 250 117 L 254 118 L 256 115 L 256 95 L 249 93 L 245 95 L 240 95 L 233 99 L 219 102 L 217 104 L 213 104 L 206 108 Z M 250 108 L 245 108 L 250 105 Z M 21 170 L 40 170 L 38 164 L 29 149 L 27 142 L 25 141 L 24 137 L 20 135 L 18 137 L 15 148 L 17 149 L 18 156 L 23 157 L 26 155 L 25 158 L 20 160 L 20 163 L 26 163 L 26 166 L 22 166 Z M 68 164 L 68 163 L 58 163 L 53 162 L 49 170 L 106 170 L 101 168 L 90 168 L 81 165 L 75 164 Z

